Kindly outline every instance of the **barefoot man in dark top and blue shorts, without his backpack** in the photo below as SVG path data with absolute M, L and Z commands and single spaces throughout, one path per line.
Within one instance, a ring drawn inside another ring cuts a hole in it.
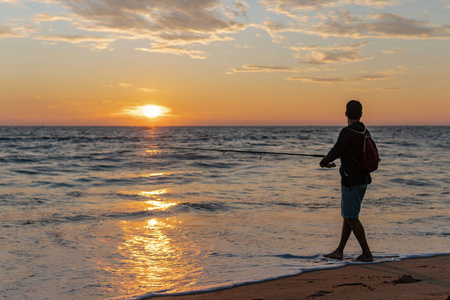
M 362 254 L 356 258 L 357 261 L 373 261 L 372 253 L 367 244 L 364 227 L 359 221 L 361 202 L 367 189 L 367 185 L 372 182 L 369 173 L 363 173 L 359 167 L 364 145 L 364 135 L 366 130 L 360 122 L 362 116 L 362 105 L 359 101 L 351 100 L 347 103 L 345 116 L 348 126 L 339 133 L 338 140 L 330 152 L 320 162 L 320 166 L 329 167 L 336 158 L 341 159 L 341 215 L 344 218 L 342 223 L 341 241 L 333 252 L 324 255 L 327 258 L 342 259 L 344 248 L 353 232 L 362 249 Z

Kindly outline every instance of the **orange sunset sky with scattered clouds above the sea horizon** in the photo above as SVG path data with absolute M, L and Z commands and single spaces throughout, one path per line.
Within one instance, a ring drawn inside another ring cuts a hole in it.
M 449 53 L 450 0 L 0 0 L 0 125 L 450 125 Z

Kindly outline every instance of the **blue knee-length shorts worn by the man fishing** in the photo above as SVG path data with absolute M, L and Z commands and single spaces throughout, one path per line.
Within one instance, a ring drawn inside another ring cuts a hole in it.
M 351 187 L 341 186 L 341 215 L 344 219 L 359 218 L 361 202 L 366 193 L 367 184 Z

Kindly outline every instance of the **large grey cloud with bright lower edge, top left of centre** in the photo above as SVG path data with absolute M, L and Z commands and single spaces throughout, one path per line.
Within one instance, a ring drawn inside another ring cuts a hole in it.
M 108 33 L 116 39 L 147 39 L 157 46 L 137 50 L 148 52 L 205 58 L 201 51 L 182 48 L 231 40 L 228 34 L 246 28 L 234 20 L 246 16 L 243 1 L 235 1 L 233 7 L 218 0 L 63 1 L 77 17 L 77 29 Z

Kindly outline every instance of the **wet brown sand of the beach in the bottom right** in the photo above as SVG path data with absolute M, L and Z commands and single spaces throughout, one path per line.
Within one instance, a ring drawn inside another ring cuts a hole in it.
M 404 276 L 409 275 L 409 276 Z M 399 279 L 409 283 L 400 283 Z M 450 255 L 347 265 L 215 292 L 148 299 L 450 299 Z

